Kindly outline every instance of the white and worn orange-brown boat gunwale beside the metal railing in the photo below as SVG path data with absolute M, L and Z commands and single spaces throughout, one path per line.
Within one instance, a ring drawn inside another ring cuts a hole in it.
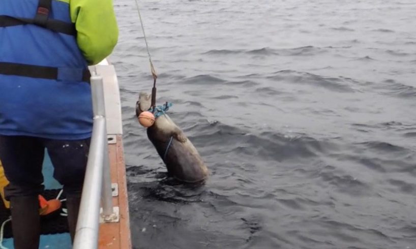
M 129 202 L 126 181 L 126 165 L 123 148 L 123 125 L 120 100 L 120 88 L 115 69 L 102 61 L 94 69 L 103 77 L 105 113 L 107 120 L 108 151 L 112 184 L 117 183 L 117 193 L 113 193 L 113 206 L 120 211 L 117 223 L 101 223 L 99 231 L 99 248 L 131 248 Z

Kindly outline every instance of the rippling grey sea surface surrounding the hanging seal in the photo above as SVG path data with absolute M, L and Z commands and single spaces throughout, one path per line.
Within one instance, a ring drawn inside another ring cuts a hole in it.
M 416 248 L 416 1 L 139 1 L 198 188 L 135 118 L 153 80 L 134 0 L 114 5 L 134 248 Z

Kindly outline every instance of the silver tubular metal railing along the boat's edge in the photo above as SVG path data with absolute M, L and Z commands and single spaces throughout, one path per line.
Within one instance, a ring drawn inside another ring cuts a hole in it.
M 92 72 L 94 74 L 94 72 Z M 91 77 L 94 110 L 93 134 L 73 243 L 74 249 L 98 248 L 100 215 L 104 222 L 118 220 L 113 211 L 103 78 Z M 102 213 L 100 214 L 100 203 Z

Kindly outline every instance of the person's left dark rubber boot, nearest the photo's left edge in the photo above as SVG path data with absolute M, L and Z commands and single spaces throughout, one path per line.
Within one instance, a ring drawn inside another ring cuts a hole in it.
M 38 249 L 40 216 L 38 196 L 10 197 L 15 249 Z

